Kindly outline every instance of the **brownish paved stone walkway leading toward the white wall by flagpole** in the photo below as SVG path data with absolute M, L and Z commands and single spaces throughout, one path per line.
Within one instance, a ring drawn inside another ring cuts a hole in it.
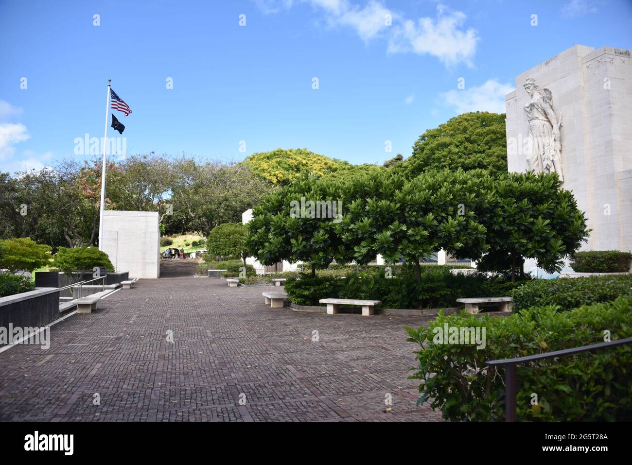
M 441 420 L 406 379 L 402 328 L 428 318 L 271 309 L 269 287 L 229 288 L 191 265 L 57 323 L 48 350 L 0 353 L 0 420 Z

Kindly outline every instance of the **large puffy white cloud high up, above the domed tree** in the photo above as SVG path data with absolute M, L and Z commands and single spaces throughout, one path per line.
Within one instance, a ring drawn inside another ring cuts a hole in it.
M 475 29 L 463 28 L 465 20 L 465 13 L 447 11 L 446 6 L 439 4 L 436 19 L 419 18 L 416 23 L 407 20 L 394 27 L 388 51 L 429 54 L 446 66 L 461 62 L 471 66 L 480 37 Z

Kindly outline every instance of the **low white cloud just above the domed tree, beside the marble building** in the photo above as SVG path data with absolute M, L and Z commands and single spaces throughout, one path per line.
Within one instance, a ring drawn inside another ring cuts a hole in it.
M 465 88 L 463 90 L 449 90 L 439 94 L 439 98 L 446 106 L 454 109 L 456 114 L 470 111 L 505 112 L 505 94 L 509 94 L 514 87 L 501 84 L 497 79 L 490 79 L 482 85 Z

